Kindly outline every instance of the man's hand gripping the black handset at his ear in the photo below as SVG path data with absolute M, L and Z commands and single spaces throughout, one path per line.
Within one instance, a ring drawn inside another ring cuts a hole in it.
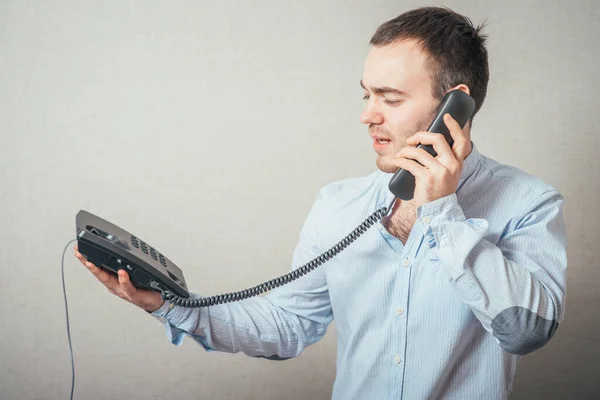
M 416 207 L 456 192 L 463 160 L 471 152 L 471 141 L 458 122 L 446 114 L 444 123 L 454 140 L 452 148 L 443 135 L 419 131 L 396 154 L 394 165 L 415 176 L 415 195 L 411 202 Z M 433 146 L 437 157 L 417 148 L 419 144 Z

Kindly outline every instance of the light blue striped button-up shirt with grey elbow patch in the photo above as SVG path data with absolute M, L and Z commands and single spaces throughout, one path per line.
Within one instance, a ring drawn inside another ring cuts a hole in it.
M 389 205 L 391 174 L 325 186 L 293 254 L 298 268 Z M 522 355 L 564 316 L 563 197 L 474 146 L 455 194 L 424 204 L 406 245 L 381 223 L 288 285 L 202 309 L 153 313 L 174 344 L 286 359 L 335 318 L 332 398 L 506 399 Z M 198 295 L 194 295 L 197 297 Z

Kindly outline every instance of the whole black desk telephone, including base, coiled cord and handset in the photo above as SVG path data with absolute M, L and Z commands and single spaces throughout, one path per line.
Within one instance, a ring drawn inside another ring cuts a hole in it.
M 440 102 L 437 115 L 428 131 L 444 135 L 452 145 L 452 137 L 443 120 L 444 114 L 450 113 L 460 126 L 464 127 L 474 109 L 475 102 L 468 94 L 460 90 L 450 91 Z M 434 157 L 437 155 L 431 146 L 417 147 L 425 149 Z M 414 176 L 406 170 L 398 171 L 390 180 L 389 189 L 396 198 L 412 199 L 415 189 Z M 394 198 L 393 202 L 395 201 Z M 88 261 L 111 273 L 116 274 L 120 269 L 126 270 L 136 287 L 156 290 L 161 293 L 164 300 L 175 305 L 208 307 L 257 296 L 309 273 L 344 250 L 387 215 L 392 209 L 393 202 L 375 211 L 335 246 L 302 267 L 249 289 L 199 299 L 190 298 L 183 272 L 158 250 L 137 236 L 84 210 L 80 210 L 76 216 L 78 251 Z

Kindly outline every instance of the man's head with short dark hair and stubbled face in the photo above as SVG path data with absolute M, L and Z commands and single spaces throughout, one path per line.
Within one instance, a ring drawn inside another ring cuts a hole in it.
M 448 91 L 469 93 L 475 100 L 473 116 L 479 111 L 489 79 L 482 28 L 447 8 L 424 7 L 377 29 L 361 80 L 366 100 L 361 122 L 374 139 L 382 139 L 374 141 L 382 171 L 397 170 L 388 157 L 428 128 Z

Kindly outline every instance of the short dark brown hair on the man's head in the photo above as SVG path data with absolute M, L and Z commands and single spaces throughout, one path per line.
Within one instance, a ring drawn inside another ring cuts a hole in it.
M 422 7 L 383 23 L 371 38 L 373 46 L 414 39 L 427 53 L 433 97 L 461 83 L 475 100 L 473 117 L 481 108 L 489 80 L 485 22 L 474 27 L 471 20 L 447 7 Z

